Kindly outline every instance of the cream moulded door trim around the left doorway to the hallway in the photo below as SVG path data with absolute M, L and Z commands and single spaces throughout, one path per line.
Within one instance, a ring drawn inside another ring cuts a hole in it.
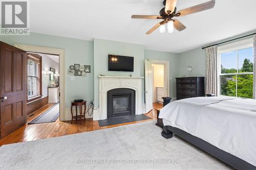
M 20 48 L 26 52 L 33 53 L 45 53 L 45 54 L 53 54 L 59 56 L 59 119 L 60 121 L 66 120 L 65 114 L 65 50 L 59 48 L 51 48 L 46 46 L 36 46 L 36 45 L 26 45 L 26 44 L 14 44 L 15 47 Z

